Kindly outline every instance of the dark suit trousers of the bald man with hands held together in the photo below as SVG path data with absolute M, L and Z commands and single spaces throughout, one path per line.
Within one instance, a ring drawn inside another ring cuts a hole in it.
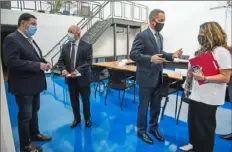
M 81 120 L 79 94 L 82 98 L 85 120 L 90 119 L 90 85 L 80 86 L 77 79 L 70 79 L 68 83 L 71 105 L 75 120 Z

